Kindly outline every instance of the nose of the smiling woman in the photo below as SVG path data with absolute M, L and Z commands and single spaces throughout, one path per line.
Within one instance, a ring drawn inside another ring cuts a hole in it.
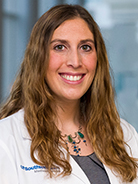
M 70 51 L 67 58 L 67 65 L 73 68 L 79 68 L 82 65 L 82 58 L 78 50 Z

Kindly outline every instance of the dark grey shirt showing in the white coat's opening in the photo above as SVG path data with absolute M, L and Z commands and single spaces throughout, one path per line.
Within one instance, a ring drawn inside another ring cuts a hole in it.
M 72 155 L 72 157 L 85 172 L 91 184 L 110 184 L 104 166 L 95 153 L 88 156 Z

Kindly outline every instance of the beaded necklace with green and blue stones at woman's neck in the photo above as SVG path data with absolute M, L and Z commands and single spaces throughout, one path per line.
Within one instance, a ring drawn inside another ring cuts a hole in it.
M 81 130 L 82 130 L 82 127 L 80 125 L 78 131 L 74 133 L 75 134 L 74 136 L 72 136 L 71 134 L 69 134 L 69 135 L 67 135 L 67 134 L 61 135 L 61 137 L 64 139 L 64 141 L 65 141 L 65 143 L 67 145 L 68 152 L 69 152 L 68 144 L 71 144 L 71 148 L 73 149 L 74 153 L 77 156 L 80 156 L 80 154 L 81 154 L 81 148 L 79 146 L 79 143 L 81 141 L 83 141 L 84 144 L 87 146 L 86 140 L 85 140 L 84 135 L 81 132 Z

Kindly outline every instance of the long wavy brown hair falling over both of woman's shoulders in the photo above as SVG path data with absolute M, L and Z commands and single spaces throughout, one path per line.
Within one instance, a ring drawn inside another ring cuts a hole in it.
M 63 153 L 60 132 L 54 123 L 56 109 L 51 107 L 54 97 L 45 76 L 54 30 L 64 21 L 76 17 L 85 20 L 94 35 L 98 60 L 93 83 L 80 100 L 81 118 L 87 125 L 89 139 L 99 159 L 118 173 L 123 181 L 131 182 L 136 178 L 138 166 L 125 149 L 105 44 L 93 18 L 79 5 L 55 6 L 36 22 L 11 94 L 1 108 L 0 118 L 23 108 L 25 124 L 32 139 L 32 160 L 47 167 L 50 177 L 55 176 L 51 168 L 58 166 L 63 168 L 63 176 L 71 173 L 69 153 Z M 37 158 L 34 156 L 36 152 Z

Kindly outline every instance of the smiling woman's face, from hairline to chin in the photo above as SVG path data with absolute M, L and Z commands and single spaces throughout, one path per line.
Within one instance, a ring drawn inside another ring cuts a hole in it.
M 46 81 L 57 100 L 79 100 L 90 87 L 96 70 L 94 37 L 87 23 L 76 18 L 53 33 Z

